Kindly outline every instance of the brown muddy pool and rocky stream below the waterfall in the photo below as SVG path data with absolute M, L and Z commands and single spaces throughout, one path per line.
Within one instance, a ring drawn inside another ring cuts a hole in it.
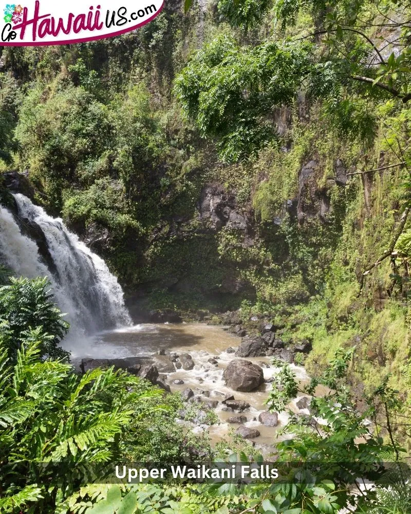
M 71 348 L 72 360 L 74 363 L 85 357 L 91 358 L 126 358 L 137 356 L 150 356 L 160 350 L 167 352 L 189 353 L 195 367 L 191 371 L 177 370 L 167 374 L 166 383 L 172 391 L 182 391 L 190 388 L 194 394 L 199 391 L 210 391 L 210 397 L 206 399 L 218 400 L 215 412 L 219 418 L 219 424 L 213 426 L 201 425 L 193 429 L 194 432 L 207 430 L 212 443 L 216 443 L 222 437 L 228 436 L 230 429 L 236 429 L 239 425 L 227 423 L 227 419 L 236 415 L 233 412 L 225 412 L 221 403 L 222 395 L 231 393 L 236 400 L 245 400 L 250 403 L 250 409 L 245 411 L 248 421 L 245 424 L 250 428 L 256 428 L 260 436 L 253 439 L 256 446 L 262 449 L 269 449 L 281 436 L 277 435 L 278 429 L 287 423 L 288 415 L 281 413 L 278 416 L 277 427 L 265 427 L 258 421 L 258 415 L 267 410 L 267 400 L 271 384 L 263 384 L 259 389 L 241 393 L 228 388 L 222 378 L 222 374 L 229 362 L 238 359 L 234 354 L 229 354 L 226 349 L 238 346 L 240 338 L 231 335 L 220 326 L 205 325 L 200 323 L 182 324 L 141 324 L 133 327 L 116 329 L 111 332 L 104 332 L 94 336 L 83 347 Z M 212 365 L 208 359 L 214 357 L 218 365 Z M 270 378 L 278 372 L 278 368 L 272 365 L 272 357 L 247 358 L 263 368 L 264 377 Z M 269 366 L 269 367 L 265 367 Z M 297 378 L 305 383 L 309 380 L 305 369 L 302 366 L 291 364 Z M 184 384 L 176 386 L 173 380 L 181 379 Z M 289 408 L 294 412 L 306 413 L 308 410 L 298 410 L 292 401 Z M 289 437 L 289 436 L 288 436 Z

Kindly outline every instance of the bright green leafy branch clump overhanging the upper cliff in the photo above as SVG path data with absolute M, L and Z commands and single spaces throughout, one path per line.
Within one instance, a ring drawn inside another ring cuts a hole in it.
M 273 42 L 239 48 L 223 37 L 200 50 L 176 79 L 184 111 L 202 135 L 218 137 L 223 161 L 255 155 L 273 139 L 269 113 L 294 98 L 309 70 L 307 50 Z

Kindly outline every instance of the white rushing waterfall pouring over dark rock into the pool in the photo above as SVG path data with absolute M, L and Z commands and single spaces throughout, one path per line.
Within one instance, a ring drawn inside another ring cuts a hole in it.
M 20 224 L 40 231 L 50 257 L 42 258 L 38 243 L 22 233 L 9 210 L 0 206 L 0 259 L 16 276 L 47 276 L 58 307 L 67 313 L 70 335 L 76 337 L 130 325 L 123 291 L 98 255 L 62 219 L 52 218 L 22 194 L 15 194 Z M 70 337 L 73 339 L 73 337 Z

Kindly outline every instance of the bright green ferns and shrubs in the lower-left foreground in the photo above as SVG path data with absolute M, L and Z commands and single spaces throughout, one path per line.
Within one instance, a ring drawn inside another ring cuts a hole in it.
M 63 362 L 56 339 L 68 324 L 45 279 L 11 278 L 0 312 L 1 512 L 68 512 L 86 477 L 103 477 L 109 462 L 210 459 L 208 438 L 175 421 L 180 395 L 113 368 L 81 376 Z

